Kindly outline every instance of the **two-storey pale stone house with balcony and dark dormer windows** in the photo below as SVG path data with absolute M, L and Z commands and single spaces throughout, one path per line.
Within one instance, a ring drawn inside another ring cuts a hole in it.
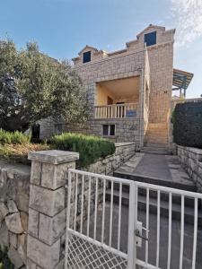
M 41 137 L 67 131 L 135 142 L 140 149 L 167 146 L 172 87 L 186 91 L 193 75 L 173 69 L 174 33 L 150 24 L 122 50 L 83 48 L 73 62 L 88 89 L 91 117 L 83 125 L 47 122 Z

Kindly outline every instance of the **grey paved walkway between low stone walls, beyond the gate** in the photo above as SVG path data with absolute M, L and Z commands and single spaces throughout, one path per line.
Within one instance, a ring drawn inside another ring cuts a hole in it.
M 126 177 L 152 178 L 171 184 L 195 187 L 189 175 L 182 169 L 177 156 L 157 155 L 149 153 L 136 153 L 129 161 L 124 163 L 115 174 L 124 174 Z M 125 178 L 126 178 L 125 177 Z

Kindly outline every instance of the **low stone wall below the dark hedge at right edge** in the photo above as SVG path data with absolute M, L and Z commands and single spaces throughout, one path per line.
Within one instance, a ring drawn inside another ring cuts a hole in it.
M 182 167 L 198 187 L 198 192 L 202 193 L 202 150 L 178 145 L 178 156 Z

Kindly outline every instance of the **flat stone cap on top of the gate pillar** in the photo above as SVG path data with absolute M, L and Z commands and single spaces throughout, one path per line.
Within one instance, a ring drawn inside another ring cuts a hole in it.
M 78 152 L 64 152 L 64 151 L 40 151 L 29 152 L 28 159 L 31 161 L 41 161 L 52 164 L 59 164 L 79 159 Z

